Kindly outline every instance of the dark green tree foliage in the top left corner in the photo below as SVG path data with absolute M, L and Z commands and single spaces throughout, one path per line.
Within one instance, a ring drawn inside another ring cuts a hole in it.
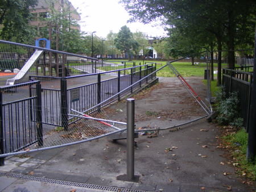
M 5 40 L 27 43 L 31 39 L 32 27 L 30 9 L 37 5 L 38 0 L 1 0 L 0 1 L 0 36 Z

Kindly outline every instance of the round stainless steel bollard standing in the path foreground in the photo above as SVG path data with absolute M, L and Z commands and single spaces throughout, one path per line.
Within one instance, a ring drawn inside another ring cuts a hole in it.
M 134 180 L 134 99 L 127 99 L 127 179 Z

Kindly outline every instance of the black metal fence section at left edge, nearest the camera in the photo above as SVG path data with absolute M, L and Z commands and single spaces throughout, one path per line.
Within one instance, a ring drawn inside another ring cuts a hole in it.
M 41 99 L 40 81 L 0 87 L 0 154 L 43 144 Z

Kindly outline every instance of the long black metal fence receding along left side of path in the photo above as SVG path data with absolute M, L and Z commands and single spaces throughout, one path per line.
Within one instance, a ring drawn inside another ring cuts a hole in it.
M 76 120 L 74 117 L 68 118 L 68 114 L 72 113 L 71 108 L 77 111 L 86 111 L 134 84 L 117 97 L 102 103 L 98 107 L 100 110 L 101 107 L 119 100 L 126 94 L 133 93 L 134 89 L 154 80 L 155 73 L 136 84 L 137 81 L 155 70 L 155 64 L 146 64 L 80 76 L 63 78 L 30 76 L 30 79 L 44 79 L 42 80 L 42 122 L 67 128 L 68 124 Z M 110 76 L 110 73 L 117 75 Z M 35 95 L 35 87 L 32 87 L 31 95 Z

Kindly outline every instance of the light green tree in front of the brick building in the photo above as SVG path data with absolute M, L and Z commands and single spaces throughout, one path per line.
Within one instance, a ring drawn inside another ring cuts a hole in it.
M 77 20 L 72 19 L 72 14 L 77 12 L 71 10 L 71 5 L 67 0 L 61 0 L 59 4 L 54 0 L 45 0 L 48 6 L 47 15 L 43 15 L 40 20 L 46 23 L 39 31 L 39 36 L 49 38 L 51 34 L 52 49 L 79 53 L 84 51 L 84 34 L 77 30 Z M 51 31 L 49 31 L 51 29 Z

